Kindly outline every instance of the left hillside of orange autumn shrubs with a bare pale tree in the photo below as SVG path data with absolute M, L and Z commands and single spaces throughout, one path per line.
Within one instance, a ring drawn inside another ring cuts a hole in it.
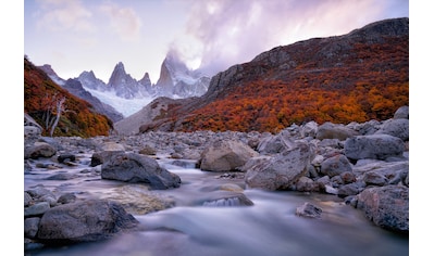
M 60 87 L 27 59 L 24 59 L 24 113 L 40 125 L 45 136 L 108 136 L 113 128 L 106 115 Z

